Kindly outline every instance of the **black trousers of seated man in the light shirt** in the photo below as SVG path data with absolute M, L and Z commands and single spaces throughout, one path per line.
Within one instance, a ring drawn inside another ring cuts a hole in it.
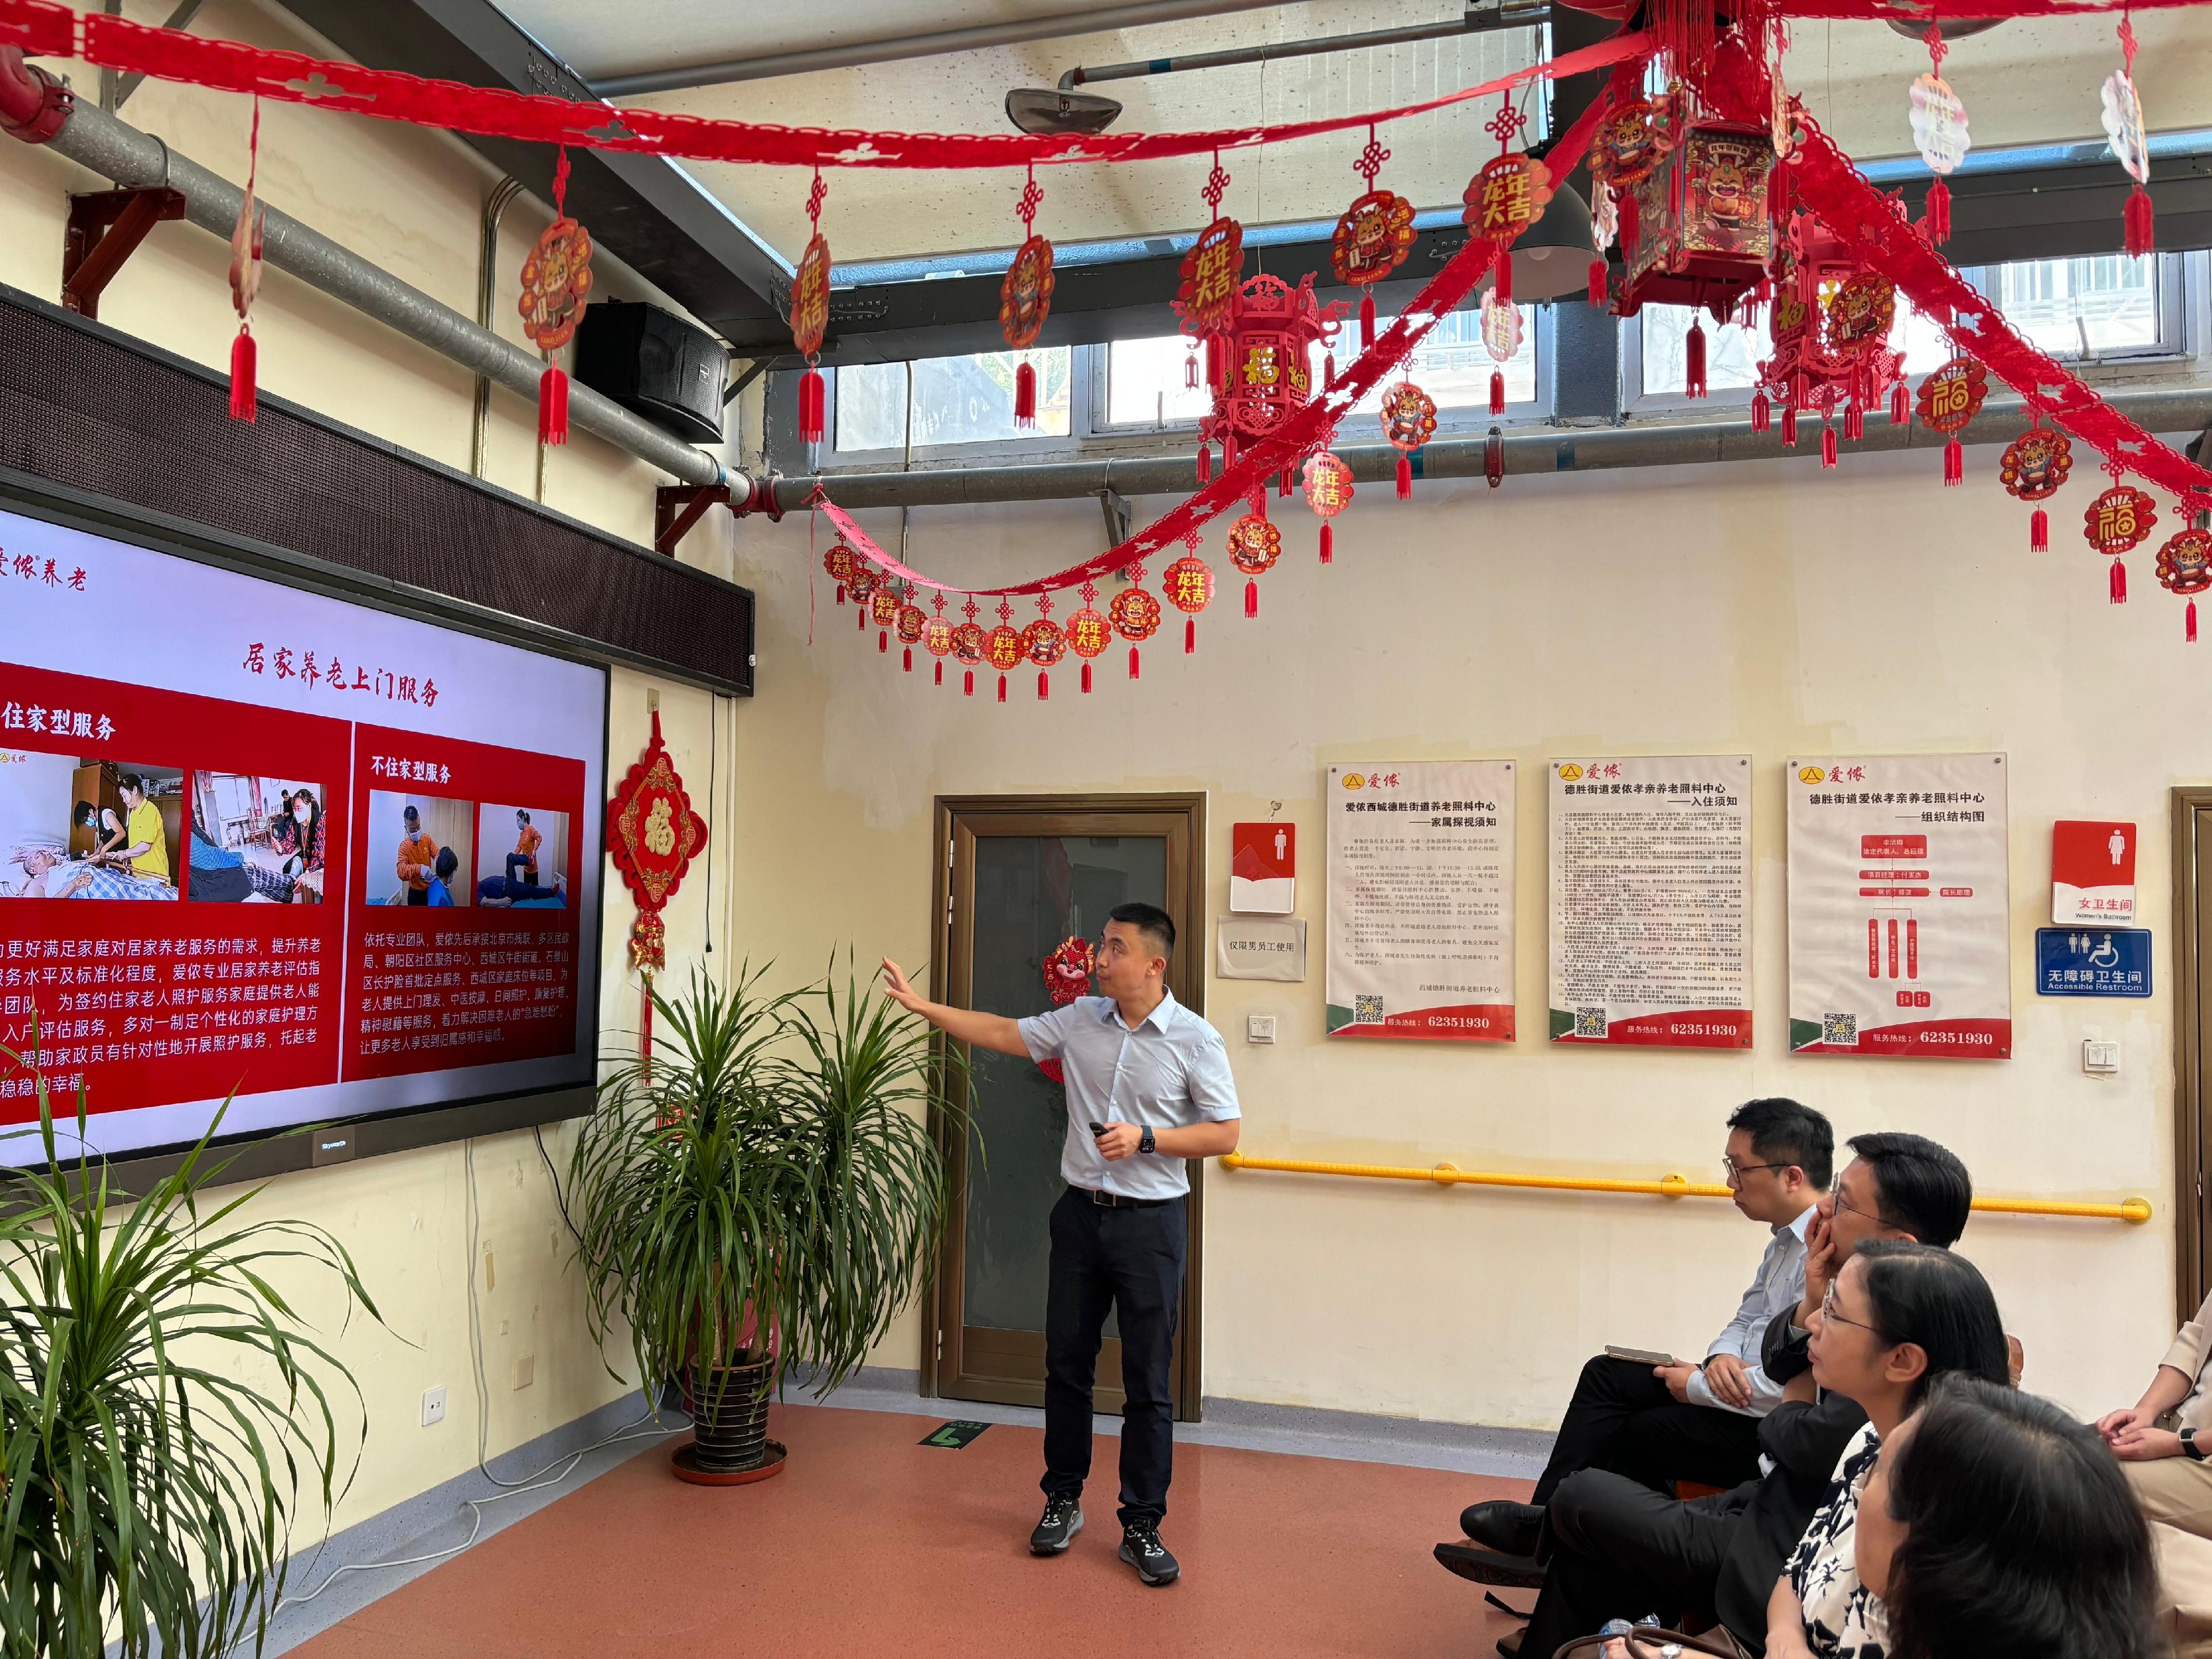
M 1577 1469 L 1613 1469 L 1657 1491 L 1677 1480 L 1734 1486 L 1759 1475 L 1759 1418 L 1683 1405 L 1652 1367 L 1599 1354 L 1582 1367 L 1533 1502 L 1548 1504 Z

